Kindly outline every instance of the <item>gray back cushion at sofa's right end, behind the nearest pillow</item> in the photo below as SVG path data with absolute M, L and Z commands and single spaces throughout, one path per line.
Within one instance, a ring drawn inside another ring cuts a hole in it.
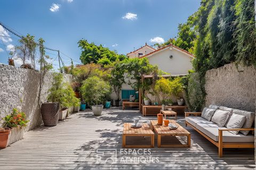
M 233 114 L 246 116 L 246 121 L 245 121 L 244 125 L 242 126 L 242 128 L 252 128 L 252 123 L 255 118 L 255 113 L 234 109 Z M 240 131 L 240 132 L 243 133 L 244 135 L 247 135 L 250 131 Z

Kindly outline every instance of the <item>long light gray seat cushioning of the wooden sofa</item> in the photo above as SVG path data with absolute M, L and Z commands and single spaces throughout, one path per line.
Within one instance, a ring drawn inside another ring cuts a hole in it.
M 212 140 L 218 142 L 219 141 L 219 129 L 227 129 L 227 128 L 219 128 L 217 124 L 205 124 L 205 123 L 197 123 L 196 128 L 210 137 Z M 228 131 L 222 132 L 222 141 L 223 142 L 254 142 L 254 135 L 244 135 L 242 133 L 233 134 Z

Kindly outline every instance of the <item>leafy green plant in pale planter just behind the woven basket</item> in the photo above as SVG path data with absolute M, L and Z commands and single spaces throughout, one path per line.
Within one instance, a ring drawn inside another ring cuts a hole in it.
M 59 103 L 58 120 L 63 120 L 68 113 L 68 108 L 79 105 L 79 99 L 75 97 L 75 92 L 67 83 L 62 83 L 63 75 L 54 73 L 52 87 L 49 89 L 50 94 L 47 100 L 52 103 Z

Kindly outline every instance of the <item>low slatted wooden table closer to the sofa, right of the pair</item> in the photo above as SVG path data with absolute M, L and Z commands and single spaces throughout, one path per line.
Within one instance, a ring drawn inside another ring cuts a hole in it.
M 178 125 L 178 129 L 170 130 L 169 127 L 164 125 L 158 125 L 157 121 L 150 121 L 151 125 L 153 126 L 153 129 L 157 133 L 157 147 L 158 148 L 189 148 L 190 147 L 190 133 L 184 129 L 181 125 L 176 123 L 174 120 L 170 120 L 170 123 Z M 187 144 L 183 145 L 176 145 L 176 144 L 168 144 L 168 145 L 161 145 L 161 137 L 163 136 L 175 136 L 175 137 L 181 137 L 186 136 L 187 137 Z

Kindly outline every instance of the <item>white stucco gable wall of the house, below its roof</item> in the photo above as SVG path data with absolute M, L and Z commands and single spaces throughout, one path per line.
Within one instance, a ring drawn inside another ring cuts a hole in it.
M 172 55 L 173 58 L 170 58 L 170 55 Z M 175 48 L 172 50 L 167 48 L 152 56 L 148 56 L 148 60 L 150 64 L 156 64 L 159 69 L 171 73 L 172 75 L 188 74 L 188 70 L 193 69 L 191 57 Z

